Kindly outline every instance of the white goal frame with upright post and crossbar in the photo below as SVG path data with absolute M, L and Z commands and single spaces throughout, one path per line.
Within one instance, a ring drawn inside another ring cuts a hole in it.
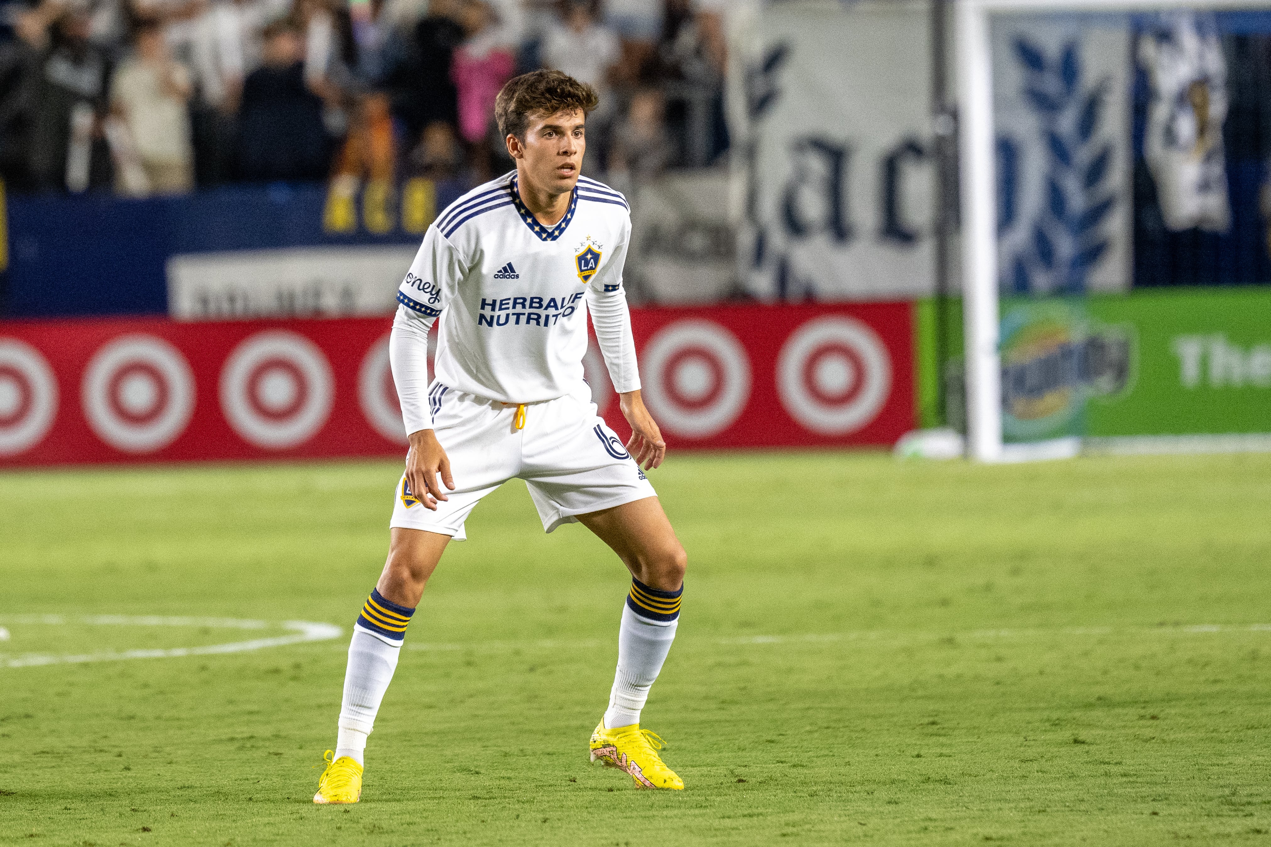
M 1196 9 L 1271 9 L 1271 0 L 955 0 L 957 85 L 962 149 L 962 305 L 966 334 L 967 456 L 1013 458 L 1002 444 L 1002 356 L 998 350 L 998 201 L 993 145 L 995 13 L 1143 13 Z M 1036 457 L 1045 457 L 1043 451 Z M 1050 453 L 1054 455 L 1054 453 Z M 1019 457 L 1027 457 L 1022 455 Z

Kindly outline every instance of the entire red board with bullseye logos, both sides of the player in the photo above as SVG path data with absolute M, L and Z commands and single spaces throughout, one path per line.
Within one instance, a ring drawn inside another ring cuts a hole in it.
M 672 447 L 885 446 L 914 425 L 907 303 L 633 310 Z M 0 324 L 0 466 L 400 455 L 380 317 Z M 586 359 L 623 437 L 599 350 Z

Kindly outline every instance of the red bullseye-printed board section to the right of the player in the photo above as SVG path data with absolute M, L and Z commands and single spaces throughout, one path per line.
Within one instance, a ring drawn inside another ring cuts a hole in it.
M 633 310 L 644 403 L 671 446 L 890 446 L 914 427 L 910 312 L 909 303 Z M 605 418 L 625 436 L 615 411 Z

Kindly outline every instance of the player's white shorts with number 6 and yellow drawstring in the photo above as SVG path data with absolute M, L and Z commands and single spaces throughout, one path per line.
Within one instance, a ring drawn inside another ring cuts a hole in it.
M 527 404 L 524 429 L 515 427 L 516 406 L 498 400 L 440 382 L 432 383 L 428 399 L 455 490 L 446 490 L 450 499 L 437 503 L 433 512 L 412 497 L 403 475 L 393 495 L 390 527 L 464 541 L 464 521 L 483 497 L 510 479 L 525 480 L 547 532 L 576 522 L 576 514 L 656 497 L 623 442 L 596 414 L 590 396 Z

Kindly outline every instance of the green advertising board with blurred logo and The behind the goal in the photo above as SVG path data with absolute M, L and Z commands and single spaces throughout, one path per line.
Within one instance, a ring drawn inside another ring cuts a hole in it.
M 961 311 L 949 303 L 951 394 L 962 390 Z M 928 411 L 939 378 L 932 301 L 915 303 L 915 315 L 923 425 L 932 427 L 942 423 Z M 1271 288 L 1004 298 L 1000 333 L 1008 443 L 1079 436 L 1150 448 L 1174 436 L 1271 434 Z

